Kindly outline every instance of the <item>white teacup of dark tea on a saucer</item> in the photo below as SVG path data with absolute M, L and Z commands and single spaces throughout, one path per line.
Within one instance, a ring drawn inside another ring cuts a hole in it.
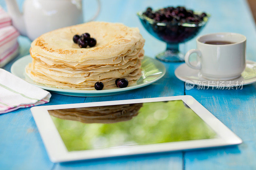
M 229 41 L 230 44 L 206 44 L 207 41 Z M 212 33 L 196 38 L 197 49 L 185 55 L 186 64 L 200 70 L 202 76 L 211 80 L 229 80 L 241 76 L 245 69 L 246 37 L 238 33 Z M 197 53 L 197 65 L 189 62 L 192 53 Z

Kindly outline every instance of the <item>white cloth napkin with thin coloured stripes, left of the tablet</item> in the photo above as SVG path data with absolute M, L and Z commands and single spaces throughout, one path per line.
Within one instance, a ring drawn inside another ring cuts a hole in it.
M 51 93 L 0 69 L 0 114 L 48 103 Z

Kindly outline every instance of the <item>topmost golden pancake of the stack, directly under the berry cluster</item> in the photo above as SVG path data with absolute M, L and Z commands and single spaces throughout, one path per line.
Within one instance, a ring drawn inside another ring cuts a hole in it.
M 80 48 L 73 42 L 75 34 L 83 33 L 90 33 L 91 37 L 97 40 L 96 46 Z M 70 62 L 101 60 L 123 55 L 132 48 L 136 48 L 137 42 L 141 42 L 137 44 L 139 48 L 144 44 L 138 28 L 131 28 L 121 23 L 92 21 L 41 35 L 31 43 L 31 55 L 41 54 L 51 59 Z

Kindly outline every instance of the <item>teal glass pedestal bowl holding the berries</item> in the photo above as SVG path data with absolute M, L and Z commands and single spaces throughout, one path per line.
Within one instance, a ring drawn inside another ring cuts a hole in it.
M 157 22 L 138 12 L 142 25 L 145 29 L 158 40 L 167 43 L 166 50 L 156 58 L 164 62 L 182 62 L 184 54 L 179 51 L 179 43 L 186 42 L 194 38 L 208 21 L 209 14 L 200 22 Z M 200 12 L 195 12 L 200 14 Z

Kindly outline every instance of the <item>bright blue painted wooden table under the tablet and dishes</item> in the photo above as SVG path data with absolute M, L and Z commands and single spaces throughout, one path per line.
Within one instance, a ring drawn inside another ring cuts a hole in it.
M 23 0 L 18 1 L 20 8 Z M 184 5 L 212 16 L 200 35 L 215 32 L 235 32 L 247 37 L 247 59 L 256 61 L 256 30 L 245 0 L 101 0 L 99 21 L 122 22 L 139 27 L 146 43 L 145 55 L 154 57 L 165 49 L 142 27 L 135 15 L 148 6 Z M 85 15 L 96 10 L 95 2 L 85 1 Z M 6 9 L 4 0 L 0 5 Z M 20 55 L 29 53 L 30 41 L 20 36 Z M 195 48 L 195 39 L 182 44 L 181 51 Z M 15 59 L 15 60 L 16 60 Z M 10 71 L 14 61 L 4 69 Z M 256 84 L 242 90 L 185 90 L 184 82 L 174 76 L 180 63 L 164 63 L 167 73 L 156 83 L 128 93 L 106 97 L 72 97 L 52 93 L 47 105 L 149 97 L 191 95 L 244 141 L 238 146 L 202 149 L 186 152 L 167 152 L 120 158 L 96 159 L 69 163 L 52 163 L 29 108 L 0 115 L 0 169 L 256 169 Z

